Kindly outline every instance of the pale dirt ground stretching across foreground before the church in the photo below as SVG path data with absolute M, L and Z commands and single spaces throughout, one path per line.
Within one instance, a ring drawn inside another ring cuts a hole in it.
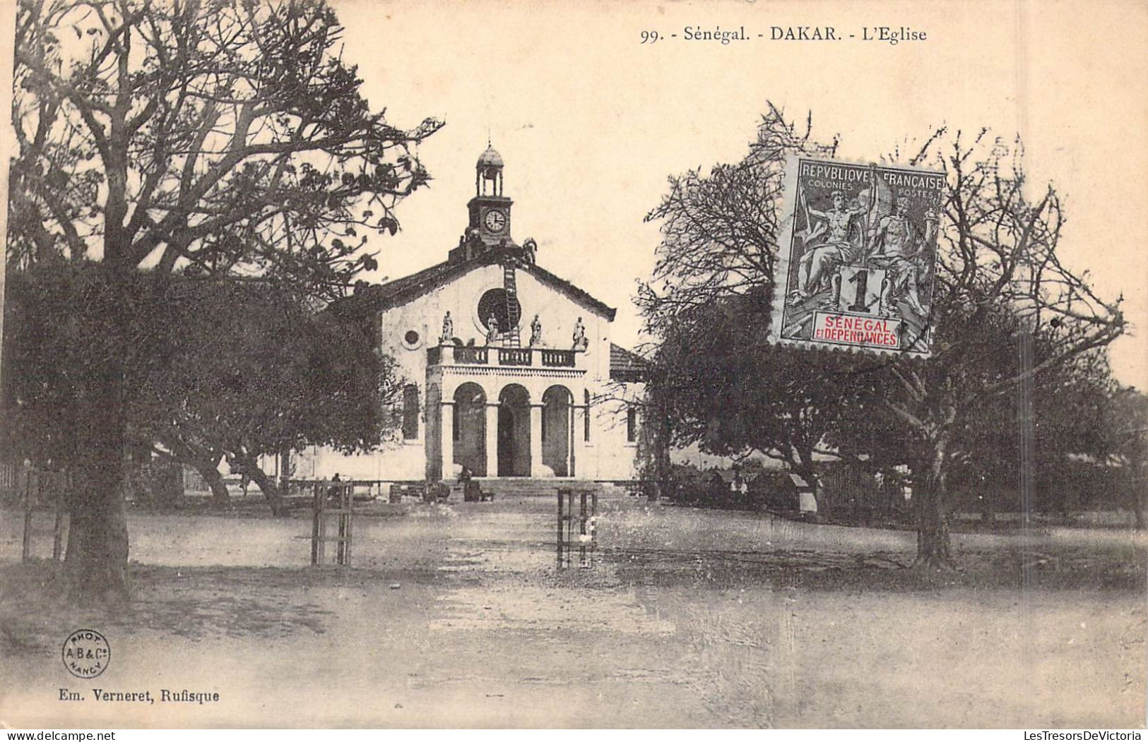
M 616 498 L 595 568 L 559 573 L 549 500 L 367 509 L 352 570 L 305 565 L 302 515 L 135 513 L 135 600 L 115 612 L 55 596 L 52 564 L 18 564 L 17 514 L 0 513 L 0 724 L 1145 724 L 1141 534 L 962 534 L 962 571 L 923 579 L 905 569 L 913 533 Z M 60 658 L 80 627 L 111 647 L 94 680 Z

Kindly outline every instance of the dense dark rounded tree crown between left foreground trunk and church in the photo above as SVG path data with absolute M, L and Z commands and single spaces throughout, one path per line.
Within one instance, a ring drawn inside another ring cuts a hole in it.
M 366 451 L 394 429 L 387 411 L 401 378 L 370 323 L 233 279 L 181 281 L 166 303 L 161 333 L 177 339 L 149 367 L 129 419 L 137 436 L 195 466 L 217 495 L 226 460 L 279 513 L 286 493 L 261 458 L 305 446 Z

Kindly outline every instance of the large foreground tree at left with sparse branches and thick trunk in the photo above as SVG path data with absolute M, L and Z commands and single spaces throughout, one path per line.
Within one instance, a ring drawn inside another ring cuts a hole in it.
M 258 274 L 319 297 L 371 267 L 367 232 L 427 181 L 412 145 L 441 125 L 388 124 L 338 55 L 321 2 L 22 0 L 16 18 L 9 260 L 100 260 L 106 357 L 78 400 L 82 483 L 68 573 L 126 592 L 119 490 L 133 307 L 147 268 Z M 109 298 L 110 297 L 110 298 Z

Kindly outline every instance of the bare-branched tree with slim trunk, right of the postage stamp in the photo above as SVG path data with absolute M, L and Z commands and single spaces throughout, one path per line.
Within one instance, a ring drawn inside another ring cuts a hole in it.
M 948 172 L 933 300 L 938 351 L 922 365 L 891 364 L 895 391 L 883 404 L 909 432 L 917 562 L 930 568 L 953 563 L 945 478 L 978 409 L 1016 395 L 1023 417 L 1035 376 L 1070 372 L 1125 326 L 1120 299 L 1102 299 L 1086 273 L 1062 261 L 1061 200 L 1052 185 L 1030 197 L 1023 154 L 1018 140 L 987 131 L 940 132 L 910 161 Z

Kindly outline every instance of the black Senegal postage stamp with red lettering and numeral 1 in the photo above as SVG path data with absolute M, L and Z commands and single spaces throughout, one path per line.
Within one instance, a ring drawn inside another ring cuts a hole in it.
M 770 341 L 926 357 L 945 173 L 794 157 Z

